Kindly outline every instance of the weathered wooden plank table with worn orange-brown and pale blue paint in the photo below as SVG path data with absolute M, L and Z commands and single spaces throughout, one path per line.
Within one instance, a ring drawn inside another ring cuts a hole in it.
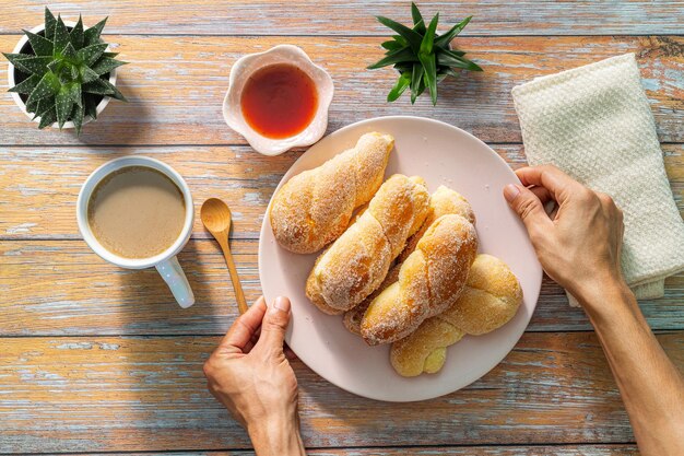
M 406 97 L 387 104 L 393 73 L 364 69 L 388 33 L 373 15 L 409 20 L 404 1 L 72 0 L 54 8 L 68 19 L 82 12 L 86 25 L 109 15 L 106 38 L 131 62 L 119 73 L 130 103 L 111 103 L 76 138 L 38 131 L 9 94 L 0 96 L 0 453 L 249 453 L 245 432 L 205 390 L 201 365 L 236 305 L 199 220 L 180 255 L 197 304 L 181 311 L 154 270 L 121 270 L 95 256 L 74 217 L 79 187 L 96 166 L 128 154 L 161 159 L 186 177 L 198 209 L 210 196 L 229 201 L 236 261 L 255 300 L 263 212 L 300 151 L 261 156 L 224 124 L 228 70 L 246 52 L 291 43 L 325 66 L 335 82 L 329 132 L 374 116 L 426 116 L 471 131 L 512 167 L 524 163 L 514 85 L 636 52 L 684 210 L 681 2 L 424 3 L 444 24 L 474 14 L 457 43 L 485 68 L 441 85 L 437 107 Z M 43 2 L 7 1 L 0 11 L 0 49 L 10 51 L 21 28 L 42 22 Z M 2 92 L 5 71 L 0 66 Z M 641 302 L 680 369 L 682 304 L 684 274 L 668 279 L 663 299 Z M 587 318 L 547 279 L 514 351 L 456 394 L 381 404 L 338 389 L 300 362 L 294 369 L 311 454 L 636 454 Z

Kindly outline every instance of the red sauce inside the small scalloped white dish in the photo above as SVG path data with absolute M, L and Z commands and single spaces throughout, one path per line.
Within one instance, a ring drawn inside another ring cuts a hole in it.
M 279 63 L 252 73 L 240 97 L 243 116 L 259 135 L 288 138 L 314 120 L 318 93 L 311 78 L 299 68 Z

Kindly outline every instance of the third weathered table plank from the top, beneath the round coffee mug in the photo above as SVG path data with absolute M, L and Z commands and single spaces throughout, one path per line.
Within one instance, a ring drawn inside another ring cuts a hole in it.
M 492 148 L 514 168 L 526 163 L 520 144 Z M 684 144 L 663 144 L 662 150 L 684 214 Z M 267 157 L 248 147 L 0 148 L 0 239 L 80 238 L 74 204 L 81 185 L 101 164 L 128 154 L 160 159 L 185 176 L 197 204 L 193 237 L 211 237 L 199 220 L 199 207 L 209 197 L 220 197 L 233 210 L 233 237 L 251 239 L 259 238 L 282 175 L 300 155 Z

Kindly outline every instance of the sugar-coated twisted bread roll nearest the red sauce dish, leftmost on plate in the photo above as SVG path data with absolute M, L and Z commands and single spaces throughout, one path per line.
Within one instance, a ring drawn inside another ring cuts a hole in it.
M 269 214 L 278 243 L 295 254 L 312 254 L 338 238 L 354 209 L 382 184 L 393 147 L 389 135 L 366 133 L 353 149 L 287 180 Z

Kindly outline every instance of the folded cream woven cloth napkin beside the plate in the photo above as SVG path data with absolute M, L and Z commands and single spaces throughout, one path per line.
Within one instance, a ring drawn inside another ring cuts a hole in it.
M 534 79 L 512 97 L 529 164 L 554 164 L 613 197 L 625 279 L 637 299 L 661 297 L 664 278 L 684 270 L 684 222 L 634 54 Z

